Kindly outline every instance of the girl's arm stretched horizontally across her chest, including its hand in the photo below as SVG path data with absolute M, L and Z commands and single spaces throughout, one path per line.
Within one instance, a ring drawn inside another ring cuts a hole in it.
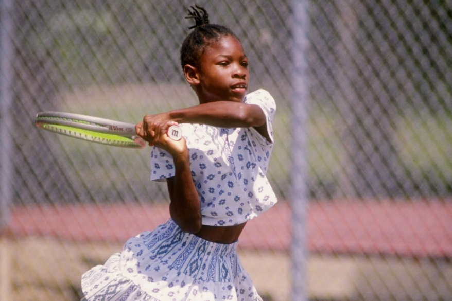
M 178 123 L 202 123 L 222 128 L 251 128 L 271 141 L 266 127 L 266 116 L 256 104 L 232 101 L 215 101 L 202 103 L 194 107 L 169 111 L 156 115 L 146 115 L 137 128 L 143 128 L 143 137 L 147 141 L 146 132 L 152 133 L 153 124 L 163 120 Z

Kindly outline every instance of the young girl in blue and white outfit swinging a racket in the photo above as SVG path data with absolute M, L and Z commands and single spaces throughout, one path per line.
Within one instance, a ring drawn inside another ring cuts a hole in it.
M 88 300 L 262 300 L 237 258 L 237 241 L 248 220 L 276 203 L 266 178 L 275 103 L 264 90 L 246 95 L 240 40 L 197 8 L 189 11 L 196 25 L 181 64 L 199 105 L 136 125 L 153 145 L 151 180 L 166 181 L 171 218 L 86 272 Z M 184 138 L 170 139 L 171 125 Z

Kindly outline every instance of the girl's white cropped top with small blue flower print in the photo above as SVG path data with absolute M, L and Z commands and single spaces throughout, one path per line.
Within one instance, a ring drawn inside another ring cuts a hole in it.
M 187 141 L 190 170 L 201 201 L 203 225 L 241 224 L 277 202 L 266 176 L 273 148 L 275 102 L 265 90 L 248 94 L 244 102 L 262 108 L 271 142 L 254 128 L 179 125 Z M 165 181 L 174 175 L 171 155 L 153 147 L 151 180 Z

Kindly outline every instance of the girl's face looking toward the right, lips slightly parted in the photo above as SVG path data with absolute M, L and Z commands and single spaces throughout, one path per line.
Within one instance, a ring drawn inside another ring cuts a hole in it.
M 209 45 L 201 57 L 198 76 L 196 90 L 200 103 L 241 102 L 249 82 L 248 59 L 241 43 L 232 36 L 224 36 Z

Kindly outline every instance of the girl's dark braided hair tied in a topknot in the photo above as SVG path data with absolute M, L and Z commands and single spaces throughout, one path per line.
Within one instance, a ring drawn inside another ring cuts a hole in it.
M 195 19 L 195 25 L 188 29 L 192 32 L 184 39 L 181 47 L 181 66 L 189 64 L 192 66 L 200 65 L 200 58 L 207 46 L 218 42 L 224 36 L 232 36 L 238 41 L 238 37 L 231 29 L 223 25 L 210 24 L 207 11 L 195 5 L 191 6 L 192 11 L 188 10 L 188 16 L 185 19 Z

